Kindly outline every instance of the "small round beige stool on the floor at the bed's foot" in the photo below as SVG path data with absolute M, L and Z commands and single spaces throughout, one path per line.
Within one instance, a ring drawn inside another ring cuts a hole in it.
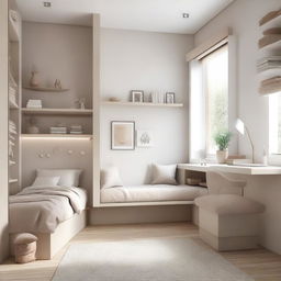
M 14 238 L 15 262 L 26 263 L 36 259 L 37 237 L 30 233 L 18 234 Z

